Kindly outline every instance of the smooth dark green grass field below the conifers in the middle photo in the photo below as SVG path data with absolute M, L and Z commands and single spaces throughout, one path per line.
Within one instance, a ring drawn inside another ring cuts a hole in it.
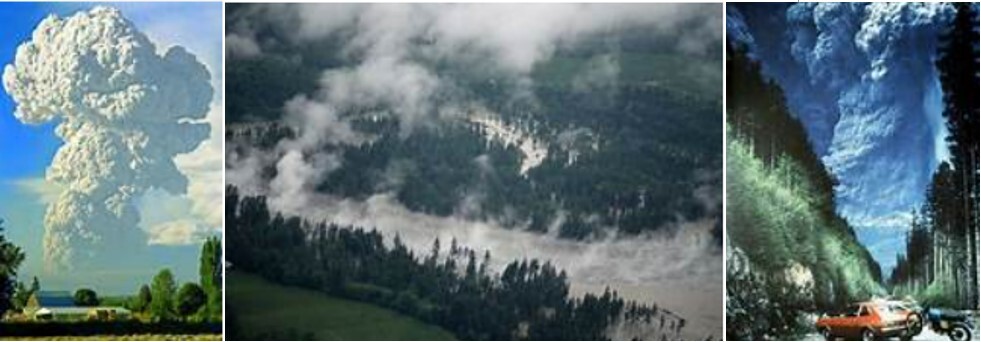
M 293 331 L 317 340 L 453 339 L 439 327 L 388 309 L 276 285 L 247 273 L 228 272 L 225 291 L 227 310 L 242 329 L 234 335 Z

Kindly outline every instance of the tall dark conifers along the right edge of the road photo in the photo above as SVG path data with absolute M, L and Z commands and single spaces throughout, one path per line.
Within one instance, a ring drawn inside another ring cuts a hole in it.
M 978 13 L 970 3 L 941 37 L 936 62 L 950 135 L 949 162 L 942 163 L 913 213 L 907 246 L 897 256 L 890 284 L 897 294 L 928 304 L 978 305 Z

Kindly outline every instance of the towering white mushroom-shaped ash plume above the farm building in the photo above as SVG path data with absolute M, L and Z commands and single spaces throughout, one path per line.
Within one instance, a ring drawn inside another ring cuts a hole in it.
M 27 124 L 57 122 L 64 145 L 46 179 L 63 191 L 45 214 L 49 267 L 84 267 L 147 243 L 134 199 L 151 188 L 186 192 L 174 156 L 208 136 L 213 90 L 181 47 L 158 55 L 116 9 L 50 16 L 4 69 Z

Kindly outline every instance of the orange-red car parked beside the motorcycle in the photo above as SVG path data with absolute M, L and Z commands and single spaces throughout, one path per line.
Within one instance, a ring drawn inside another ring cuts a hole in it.
M 908 312 L 888 302 L 864 302 L 850 305 L 844 311 L 822 316 L 815 326 L 827 340 L 837 338 L 874 341 L 899 337 L 910 340 L 915 335 L 909 327 Z

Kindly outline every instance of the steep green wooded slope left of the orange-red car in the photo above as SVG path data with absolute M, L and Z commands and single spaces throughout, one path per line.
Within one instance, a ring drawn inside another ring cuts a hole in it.
M 780 88 L 744 51 L 726 70 L 726 336 L 794 338 L 804 314 L 882 293 L 879 266 L 836 214 L 834 179 Z

